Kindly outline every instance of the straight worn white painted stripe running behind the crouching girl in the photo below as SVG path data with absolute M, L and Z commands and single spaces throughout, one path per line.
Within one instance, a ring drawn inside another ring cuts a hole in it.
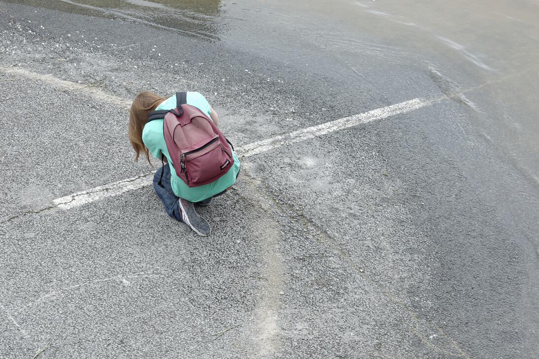
M 364 112 L 363 114 L 336 119 L 335 121 L 322 123 L 320 125 L 287 133 L 285 135 L 275 136 L 258 142 L 253 142 L 243 147 L 239 147 L 237 149 L 238 157 L 245 158 L 249 156 L 254 156 L 255 154 L 267 152 L 277 147 L 281 147 L 317 136 L 326 135 L 330 132 L 347 129 L 359 124 L 375 121 L 376 119 L 382 119 L 398 114 L 404 114 L 405 112 L 425 107 L 426 105 L 429 105 L 431 103 L 432 102 L 420 98 L 414 98 L 413 100 L 404 101 L 401 103 L 390 105 L 388 107 L 371 110 L 368 112 Z M 99 201 L 112 196 L 117 196 L 119 194 L 133 191 L 144 186 L 149 186 L 152 184 L 152 177 L 154 173 L 155 171 L 140 175 L 139 177 L 128 178 L 125 180 L 113 182 L 108 185 L 88 189 L 87 191 L 73 193 L 58 198 L 53 202 L 55 206 L 61 209 L 70 209 L 86 205 L 87 203 Z

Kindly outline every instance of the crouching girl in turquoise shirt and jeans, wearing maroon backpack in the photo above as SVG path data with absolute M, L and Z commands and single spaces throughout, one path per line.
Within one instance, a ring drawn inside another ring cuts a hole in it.
M 170 97 L 142 92 L 129 111 L 129 140 L 136 152 L 135 159 L 143 153 L 150 163 L 151 152 L 163 161 L 154 175 L 157 196 L 170 217 L 201 236 L 209 235 L 211 228 L 197 214 L 195 205 L 208 206 L 213 197 L 225 193 L 236 182 L 240 170 L 238 157 L 217 129 L 218 123 L 217 113 L 198 92 Z M 200 135 L 201 131 L 210 133 L 208 140 Z

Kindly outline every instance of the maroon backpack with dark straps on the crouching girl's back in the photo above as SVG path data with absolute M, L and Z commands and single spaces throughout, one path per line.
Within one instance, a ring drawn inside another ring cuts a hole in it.
M 153 111 L 148 122 L 161 118 L 171 165 L 186 185 L 209 184 L 230 170 L 234 147 L 208 115 L 187 104 L 187 93 L 177 92 L 176 108 Z

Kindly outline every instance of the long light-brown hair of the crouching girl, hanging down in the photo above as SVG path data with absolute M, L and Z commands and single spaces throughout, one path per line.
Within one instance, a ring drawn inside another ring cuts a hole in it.
M 138 161 L 140 154 L 146 154 L 146 160 L 151 165 L 148 148 L 142 142 L 142 130 L 148 121 L 148 115 L 155 110 L 157 105 L 166 100 L 154 93 L 144 91 L 136 95 L 129 110 L 129 141 L 136 152 L 135 160 Z

